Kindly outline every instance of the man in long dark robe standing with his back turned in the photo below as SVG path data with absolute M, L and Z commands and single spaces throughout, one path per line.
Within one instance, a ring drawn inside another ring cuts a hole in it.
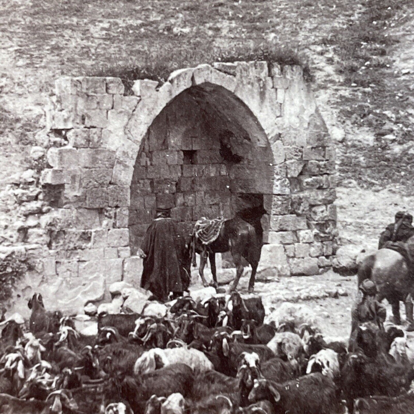
M 190 284 L 190 256 L 185 238 L 177 231 L 168 209 L 158 209 L 141 246 L 144 259 L 141 287 L 156 299 L 167 301 L 183 295 Z

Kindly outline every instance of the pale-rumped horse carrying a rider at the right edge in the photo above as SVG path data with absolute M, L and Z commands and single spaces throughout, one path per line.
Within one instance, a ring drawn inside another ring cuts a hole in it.
M 405 246 L 414 251 L 414 236 Z M 367 256 L 358 268 L 358 286 L 364 279 L 371 279 L 377 286 L 377 300 L 387 301 L 392 306 L 394 323 L 401 324 L 400 301 L 404 302 L 410 330 L 414 330 L 413 303 L 414 277 L 403 255 L 395 250 L 382 248 L 373 255 Z

